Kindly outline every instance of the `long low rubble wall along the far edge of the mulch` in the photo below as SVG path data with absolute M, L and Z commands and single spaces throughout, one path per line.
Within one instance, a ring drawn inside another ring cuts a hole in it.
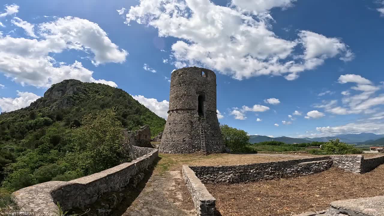
M 203 183 L 242 183 L 264 179 L 295 177 L 329 169 L 329 157 L 254 163 L 237 166 L 190 166 Z

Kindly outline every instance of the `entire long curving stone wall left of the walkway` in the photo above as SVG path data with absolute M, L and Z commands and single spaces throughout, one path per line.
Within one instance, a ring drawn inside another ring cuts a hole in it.
M 13 193 L 22 211 L 31 211 L 46 216 L 55 215 L 56 203 L 59 202 L 63 210 L 83 208 L 101 198 L 104 193 L 121 191 L 130 181 L 135 181 L 137 175 L 142 176 L 158 157 L 158 150 L 136 147 L 136 160 L 123 163 L 110 169 L 101 171 L 72 181 L 50 181 L 20 189 Z M 131 151 L 131 152 L 132 152 Z

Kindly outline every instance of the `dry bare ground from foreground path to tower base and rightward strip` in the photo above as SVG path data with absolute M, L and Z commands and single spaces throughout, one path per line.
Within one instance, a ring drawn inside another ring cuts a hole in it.
M 311 155 L 281 154 L 159 154 L 159 162 L 141 188 L 124 200 L 114 215 L 123 216 L 195 216 L 191 196 L 181 176 L 184 164 L 192 166 L 264 163 L 313 157 Z

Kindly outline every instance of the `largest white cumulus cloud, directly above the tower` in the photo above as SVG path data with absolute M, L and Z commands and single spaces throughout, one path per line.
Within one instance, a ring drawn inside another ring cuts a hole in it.
M 261 75 L 295 80 L 327 58 L 353 58 L 339 38 L 300 31 L 295 40 L 285 40 L 272 32 L 268 10 L 292 2 L 235 0 L 232 7 L 223 7 L 210 0 L 140 0 L 128 10 L 125 23 L 149 25 L 160 37 L 179 38 L 171 47 L 175 67 L 204 66 L 238 80 Z

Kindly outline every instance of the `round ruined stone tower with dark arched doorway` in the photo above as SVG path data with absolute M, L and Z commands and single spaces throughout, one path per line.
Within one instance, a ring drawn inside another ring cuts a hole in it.
M 171 75 L 168 119 L 159 151 L 200 152 L 202 126 L 207 153 L 223 152 L 225 145 L 216 114 L 214 71 L 197 67 L 175 70 Z

